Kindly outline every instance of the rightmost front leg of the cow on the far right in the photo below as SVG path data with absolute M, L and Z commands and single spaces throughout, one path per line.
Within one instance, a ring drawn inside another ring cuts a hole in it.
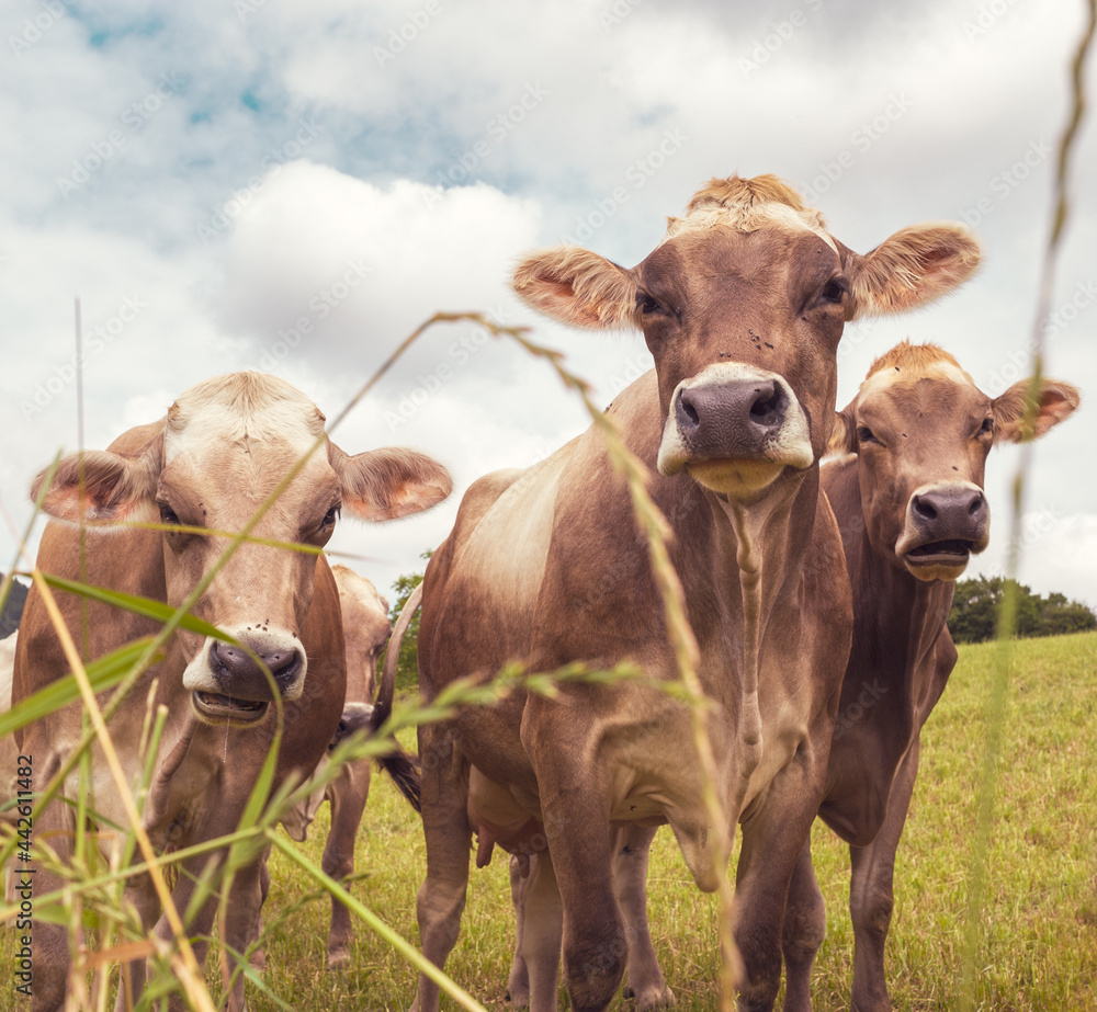
M 895 851 L 914 782 L 918 776 L 920 741 L 915 739 L 903 759 L 887 800 L 887 815 L 877 839 L 868 846 L 851 846 L 849 856 L 849 912 L 853 921 L 853 1012 L 890 1012 L 891 999 L 884 976 L 884 945 L 891 928 Z

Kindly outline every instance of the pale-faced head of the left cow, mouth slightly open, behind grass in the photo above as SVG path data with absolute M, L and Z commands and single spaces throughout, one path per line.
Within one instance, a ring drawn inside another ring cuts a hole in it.
M 183 394 L 161 423 L 121 437 L 115 447 L 127 452 L 63 460 L 44 508 L 67 520 L 237 532 L 323 436 L 324 421 L 308 398 L 275 377 L 236 373 L 210 379 Z M 35 481 L 35 498 L 45 477 Z M 405 516 L 444 499 L 450 488 L 445 470 L 421 454 L 374 450 L 349 456 L 327 443 L 251 533 L 319 548 L 341 510 L 362 520 Z M 307 664 L 299 632 L 313 598 L 316 555 L 245 542 L 223 562 L 224 537 L 172 531 L 162 541 L 167 602 L 178 606 L 219 567 L 192 612 L 235 640 L 179 634 L 188 661 L 183 686 L 199 717 L 255 723 L 275 685 L 283 700 L 297 698 Z

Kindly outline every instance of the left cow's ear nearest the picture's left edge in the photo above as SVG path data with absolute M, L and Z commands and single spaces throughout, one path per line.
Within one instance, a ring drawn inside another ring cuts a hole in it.
M 31 486 L 31 500 L 38 501 L 46 481 L 42 508 L 61 520 L 156 521 L 156 482 L 159 457 L 151 453 L 127 457 L 102 450 L 65 457 L 50 479 L 43 470 Z

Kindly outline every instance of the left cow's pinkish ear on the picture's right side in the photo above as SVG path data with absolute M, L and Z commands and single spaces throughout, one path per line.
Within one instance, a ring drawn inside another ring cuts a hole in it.
M 414 450 L 386 447 L 352 457 L 329 443 L 328 459 L 342 482 L 343 508 L 360 520 L 421 513 L 453 490 L 445 468 Z

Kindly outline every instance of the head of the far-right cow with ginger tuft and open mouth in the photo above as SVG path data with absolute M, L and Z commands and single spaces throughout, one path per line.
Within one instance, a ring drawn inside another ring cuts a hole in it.
M 1020 442 L 1029 380 L 991 398 L 948 352 L 904 341 L 872 363 L 838 414 L 830 448 L 856 453 L 873 550 L 919 580 L 957 580 L 989 538 L 983 468 L 998 440 Z M 1067 383 L 1043 380 L 1032 437 L 1078 406 Z

